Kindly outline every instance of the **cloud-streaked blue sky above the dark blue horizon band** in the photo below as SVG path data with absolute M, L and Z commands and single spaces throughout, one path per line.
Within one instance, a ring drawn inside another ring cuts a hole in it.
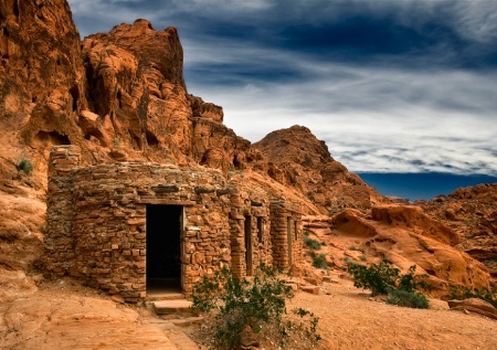
M 355 172 L 497 177 L 496 0 L 70 0 L 82 36 L 176 26 L 189 93 L 257 141 L 305 125 Z

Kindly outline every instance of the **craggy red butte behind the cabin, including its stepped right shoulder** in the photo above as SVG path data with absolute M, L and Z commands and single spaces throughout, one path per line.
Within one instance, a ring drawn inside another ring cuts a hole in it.
M 118 144 L 135 159 L 193 161 L 225 176 L 245 168 L 250 142 L 223 125 L 220 106 L 188 94 L 175 28 L 156 31 L 146 20 L 120 24 L 87 36 L 83 56 L 96 115 L 80 116 L 86 139 Z

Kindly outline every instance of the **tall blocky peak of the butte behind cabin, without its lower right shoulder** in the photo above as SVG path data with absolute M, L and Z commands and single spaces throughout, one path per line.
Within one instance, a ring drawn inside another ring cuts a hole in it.
M 108 33 L 87 36 L 83 56 L 92 108 L 101 128 L 86 129 L 108 147 L 142 151 L 170 148 L 188 155 L 191 107 L 182 71 L 182 47 L 175 28 L 156 31 L 137 20 Z

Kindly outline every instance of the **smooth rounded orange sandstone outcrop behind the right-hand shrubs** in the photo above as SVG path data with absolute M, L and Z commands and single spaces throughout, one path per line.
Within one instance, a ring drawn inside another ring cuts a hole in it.
M 406 205 L 378 205 L 372 215 L 347 209 L 332 216 L 329 231 L 315 231 L 316 218 L 305 218 L 306 230 L 315 234 L 328 254 L 328 264 L 345 268 L 346 259 L 360 263 L 389 263 L 406 273 L 416 265 L 416 274 L 427 274 L 432 296 L 445 296 L 450 288 L 489 287 L 487 268 L 448 243 L 455 243 L 455 233 L 423 214 L 421 209 Z M 321 221 L 321 223 L 325 223 Z

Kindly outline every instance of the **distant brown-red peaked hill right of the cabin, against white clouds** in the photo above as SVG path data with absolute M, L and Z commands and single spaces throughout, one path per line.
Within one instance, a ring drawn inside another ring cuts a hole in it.
M 381 194 L 336 161 L 326 144 L 306 127 L 273 131 L 253 146 L 271 160 L 267 173 L 273 179 L 298 188 L 324 213 L 347 206 L 369 209 L 371 203 L 383 201 Z

